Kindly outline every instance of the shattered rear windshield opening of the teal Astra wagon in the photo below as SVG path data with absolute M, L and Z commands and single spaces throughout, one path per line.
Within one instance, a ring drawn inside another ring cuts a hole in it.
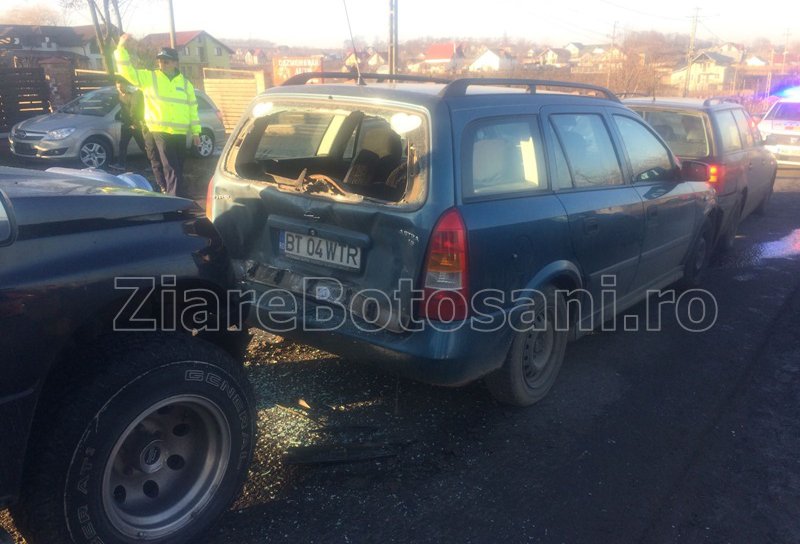
M 422 197 L 424 116 L 343 104 L 261 102 L 235 137 L 226 169 L 283 190 L 389 203 Z

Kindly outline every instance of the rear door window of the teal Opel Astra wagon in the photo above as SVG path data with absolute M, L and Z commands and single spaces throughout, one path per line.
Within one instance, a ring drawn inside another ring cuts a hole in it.
M 564 146 L 575 187 L 623 183 L 611 135 L 600 115 L 557 114 L 550 119 Z

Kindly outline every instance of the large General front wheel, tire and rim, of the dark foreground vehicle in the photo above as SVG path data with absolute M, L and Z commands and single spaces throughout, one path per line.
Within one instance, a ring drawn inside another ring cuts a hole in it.
M 177 335 L 113 338 L 76 358 L 37 416 L 15 522 L 31 544 L 184 544 L 238 495 L 255 403 L 226 352 Z M 41 415 L 41 414 L 40 414 Z M 44 421 L 42 421 L 44 419 Z

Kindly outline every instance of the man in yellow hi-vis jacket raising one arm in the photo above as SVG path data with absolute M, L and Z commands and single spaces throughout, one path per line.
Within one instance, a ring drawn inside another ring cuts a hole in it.
M 144 124 L 150 133 L 149 142 L 157 148 L 157 152 L 149 154 L 156 182 L 168 194 L 184 196 L 183 161 L 188 135 L 193 136 L 195 146 L 200 145 L 194 87 L 178 69 L 178 52 L 171 47 L 158 53 L 158 70 L 134 68 L 125 46 L 129 39 L 129 34 L 120 36 L 114 51 L 117 73 L 144 95 Z M 155 158 L 160 159 L 160 164 Z

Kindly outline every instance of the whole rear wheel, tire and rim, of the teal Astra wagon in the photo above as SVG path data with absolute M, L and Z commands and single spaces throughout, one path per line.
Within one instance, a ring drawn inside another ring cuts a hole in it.
M 530 406 L 542 400 L 564 362 L 569 335 L 567 306 L 555 287 L 547 286 L 541 292 L 544 305 L 533 310 L 536 328 L 516 332 L 505 363 L 486 377 L 492 396 L 503 404 Z

